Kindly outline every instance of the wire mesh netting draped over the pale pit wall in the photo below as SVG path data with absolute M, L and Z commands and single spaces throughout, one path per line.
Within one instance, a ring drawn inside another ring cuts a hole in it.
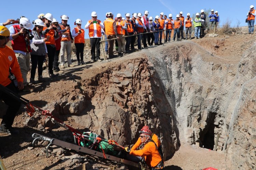
M 180 135 L 195 122 L 200 127 L 214 113 L 224 119 L 223 131 L 232 140 L 235 120 L 255 91 L 256 60 L 250 51 L 238 62 L 187 41 L 145 50 L 163 83 Z

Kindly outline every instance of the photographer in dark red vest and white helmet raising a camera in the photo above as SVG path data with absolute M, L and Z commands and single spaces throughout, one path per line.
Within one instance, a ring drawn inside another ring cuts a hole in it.
M 15 56 L 18 60 L 21 68 L 24 91 L 32 91 L 32 86 L 28 85 L 27 74 L 30 69 L 30 52 L 33 35 L 31 34 L 31 28 L 33 27 L 30 20 L 26 17 L 19 19 L 18 25 L 13 25 L 9 28 L 10 40 L 12 40 L 12 49 L 15 52 Z

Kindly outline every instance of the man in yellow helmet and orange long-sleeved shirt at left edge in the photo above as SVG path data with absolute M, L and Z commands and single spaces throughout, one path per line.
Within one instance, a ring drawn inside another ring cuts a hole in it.
M 14 93 L 17 92 L 15 86 L 12 81 L 9 79 L 10 68 L 11 72 L 14 74 L 17 80 L 17 88 L 22 90 L 24 88 L 23 79 L 21 74 L 21 69 L 19 68 L 18 61 L 16 59 L 15 53 L 13 50 L 6 46 L 10 37 L 10 31 L 4 27 L 0 26 L 0 84 Z M 0 91 L 0 100 L 8 105 L 8 109 L 6 110 L 5 115 L 3 115 L 3 119 L 0 125 L 0 132 L 3 133 L 11 133 L 18 134 L 18 130 L 12 127 L 15 115 L 21 106 L 21 103 L 18 101 L 14 101 L 10 96 L 2 93 Z

